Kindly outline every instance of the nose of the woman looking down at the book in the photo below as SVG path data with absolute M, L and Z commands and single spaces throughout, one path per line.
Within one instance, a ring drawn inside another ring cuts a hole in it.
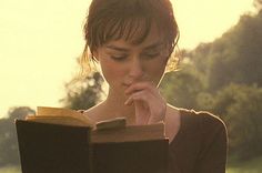
M 143 78 L 143 64 L 140 59 L 133 59 L 130 64 L 129 77 L 133 80 L 139 80 Z

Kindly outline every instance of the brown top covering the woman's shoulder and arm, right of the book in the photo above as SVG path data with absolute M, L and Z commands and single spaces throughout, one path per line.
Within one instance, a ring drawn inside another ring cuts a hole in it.
M 181 128 L 171 145 L 172 152 L 179 157 L 177 162 L 187 167 L 195 163 L 191 169 L 196 172 L 210 172 L 213 169 L 223 172 L 228 151 L 224 122 L 206 111 L 179 111 Z

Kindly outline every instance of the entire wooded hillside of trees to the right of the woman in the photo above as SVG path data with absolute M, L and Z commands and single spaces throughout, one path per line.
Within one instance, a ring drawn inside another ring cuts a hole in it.
M 161 84 L 173 105 L 211 111 L 223 119 L 230 154 L 238 160 L 262 154 L 261 48 L 262 11 L 244 14 L 221 38 L 185 51 L 182 70 L 168 74 Z

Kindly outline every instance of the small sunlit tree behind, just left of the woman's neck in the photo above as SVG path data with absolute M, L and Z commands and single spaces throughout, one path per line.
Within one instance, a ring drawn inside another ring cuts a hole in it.
M 74 79 L 66 84 L 67 96 L 60 101 L 66 108 L 73 110 L 87 110 L 97 104 L 102 98 L 103 78 L 99 72 L 83 80 Z

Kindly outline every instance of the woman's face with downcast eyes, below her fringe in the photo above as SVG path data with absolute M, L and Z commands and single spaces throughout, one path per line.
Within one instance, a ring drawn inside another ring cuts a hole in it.
M 163 75 L 168 54 L 155 27 L 140 44 L 131 44 L 123 39 L 112 40 L 93 53 L 110 89 L 118 92 L 134 82 L 150 81 L 157 86 Z

